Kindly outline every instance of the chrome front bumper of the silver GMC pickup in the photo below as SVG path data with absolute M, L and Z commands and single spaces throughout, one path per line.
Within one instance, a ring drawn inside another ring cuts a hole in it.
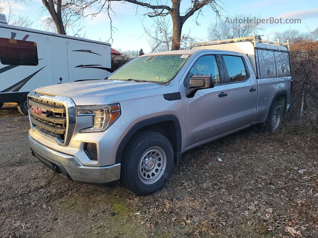
M 85 166 L 72 155 L 60 153 L 42 145 L 31 135 L 28 139 L 32 153 L 38 160 L 69 180 L 101 187 L 114 187 L 114 183 L 110 182 L 120 178 L 120 163 L 109 166 Z M 111 186 L 107 184 L 111 184 Z

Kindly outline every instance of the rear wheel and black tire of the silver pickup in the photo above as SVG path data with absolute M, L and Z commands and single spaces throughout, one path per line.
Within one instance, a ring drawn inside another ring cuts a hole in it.
M 276 118 L 276 123 L 274 123 L 274 117 Z M 280 128 L 282 118 L 283 109 L 280 105 L 280 102 L 274 101 L 269 108 L 269 112 L 265 122 L 264 129 L 266 130 L 266 132 L 269 132 L 271 134 L 276 133 Z

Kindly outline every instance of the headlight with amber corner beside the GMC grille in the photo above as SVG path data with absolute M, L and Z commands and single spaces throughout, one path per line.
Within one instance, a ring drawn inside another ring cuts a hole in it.
M 80 132 L 102 132 L 107 129 L 121 114 L 120 104 L 100 106 L 77 106 L 77 116 L 93 116 L 93 126 Z

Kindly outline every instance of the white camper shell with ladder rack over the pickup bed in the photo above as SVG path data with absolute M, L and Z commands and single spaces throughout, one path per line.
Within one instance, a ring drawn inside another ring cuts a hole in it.
M 241 52 L 249 58 L 257 78 L 290 76 L 289 42 L 280 43 L 251 37 L 226 39 L 190 45 L 190 49 L 212 49 Z

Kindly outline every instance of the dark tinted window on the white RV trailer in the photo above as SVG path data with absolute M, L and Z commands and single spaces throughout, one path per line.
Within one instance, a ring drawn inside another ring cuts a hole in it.
M 0 62 L 3 65 L 38 65 L 37 44 L 32 41 L 0 38 Z

